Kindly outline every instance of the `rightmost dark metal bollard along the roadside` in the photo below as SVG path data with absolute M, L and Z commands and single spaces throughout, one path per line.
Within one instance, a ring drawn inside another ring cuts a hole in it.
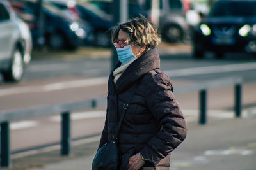
M 241 84 L 235 85 L 235 116 L 236 118 L 241 117 L 241 111 L 242 111 L 242 86 Z

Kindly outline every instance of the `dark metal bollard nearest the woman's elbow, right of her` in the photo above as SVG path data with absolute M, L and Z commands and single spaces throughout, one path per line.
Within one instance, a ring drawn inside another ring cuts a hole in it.
M 200 116 L 199 116 L 199 124 L 206 124 L 207 122 L 207 92 L 206 90 L 200 90 Z

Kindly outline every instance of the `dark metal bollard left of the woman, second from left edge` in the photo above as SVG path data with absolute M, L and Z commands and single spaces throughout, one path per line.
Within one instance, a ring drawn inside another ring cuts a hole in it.
M 69 155 L 70 153 L 70 113 L 61 113 L 61 155 Z

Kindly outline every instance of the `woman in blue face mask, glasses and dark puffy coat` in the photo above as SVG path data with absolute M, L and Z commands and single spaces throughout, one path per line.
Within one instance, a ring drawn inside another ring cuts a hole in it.
M 108 108 L 99 148 L 111 141 L 132 90 L 118 143 L 120 169 L 169 169 L 170 152 L 186 137 L 186 122 L 170 79 L 159 69 L 157 28 L 140 16 L 113 28 L 120 62 L 108 80 Z

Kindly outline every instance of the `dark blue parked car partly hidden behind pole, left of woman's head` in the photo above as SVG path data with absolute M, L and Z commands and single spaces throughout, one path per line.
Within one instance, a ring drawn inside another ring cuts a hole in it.
M 108 30 L 112 27 L 112 16 L 97 8 L 91 3 L 73 3 L 70 5 L 70 0 L 47 0 L 48 3 L 53 4 L 61 10 L 70 11 L 72 15 L 80 17 L 93 27 L 95 41 L 93 45 L 96 46 L 110 46 L 110 32 Z

